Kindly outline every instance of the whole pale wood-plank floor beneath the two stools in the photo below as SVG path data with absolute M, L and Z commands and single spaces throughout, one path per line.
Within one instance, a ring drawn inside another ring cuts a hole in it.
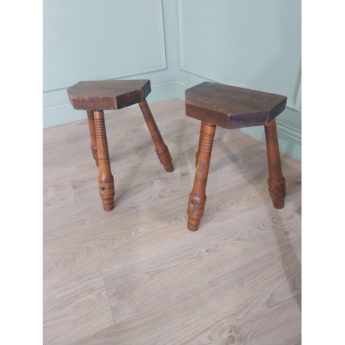
M 43 344 L 300 344 L 301 163 L 281 154 L 277 210 L 266 145 L 218 127 L 202 224 L 188 231 L 200 121 L 180 99 L 150 109 L 175 170 L 155 157 L 139 107 L 106 113 L 111 212 L 88 119 L 43 130 Z

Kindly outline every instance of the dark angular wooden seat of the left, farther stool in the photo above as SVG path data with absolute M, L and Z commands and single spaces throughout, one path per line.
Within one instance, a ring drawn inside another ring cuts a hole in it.
M 151 92 L 150 80 L 79 81 L 67 89 L 73 108 L 117 110 L 144 101 Z

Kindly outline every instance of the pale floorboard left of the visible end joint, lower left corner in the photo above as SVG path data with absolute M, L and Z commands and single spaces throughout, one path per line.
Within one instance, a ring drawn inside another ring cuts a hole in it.
M 43 293 L 43 344 L 70 344 L 112 326 L 101 271 Z

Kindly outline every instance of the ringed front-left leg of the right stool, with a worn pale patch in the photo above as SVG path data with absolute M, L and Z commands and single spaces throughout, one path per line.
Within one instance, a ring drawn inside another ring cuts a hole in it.
M 208 169 L 210 168 L 210 159 L 216 126 L 212 124 L 204 124 L 204 126 L 201 126 L 201 129 L 201 144 L 198 151 L 197 171 L 195 172 L 193 190 L 189 195 L 187 208 L 187 227 L 191 231 L 196 231 L 199 228 L 200 219 L 204 215 L 206 204 L 206 183 Z

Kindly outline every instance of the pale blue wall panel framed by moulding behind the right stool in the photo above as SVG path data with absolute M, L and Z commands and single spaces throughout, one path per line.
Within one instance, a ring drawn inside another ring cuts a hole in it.
M 180 68 L 300 110 L 301 1 L 179 0 Z

